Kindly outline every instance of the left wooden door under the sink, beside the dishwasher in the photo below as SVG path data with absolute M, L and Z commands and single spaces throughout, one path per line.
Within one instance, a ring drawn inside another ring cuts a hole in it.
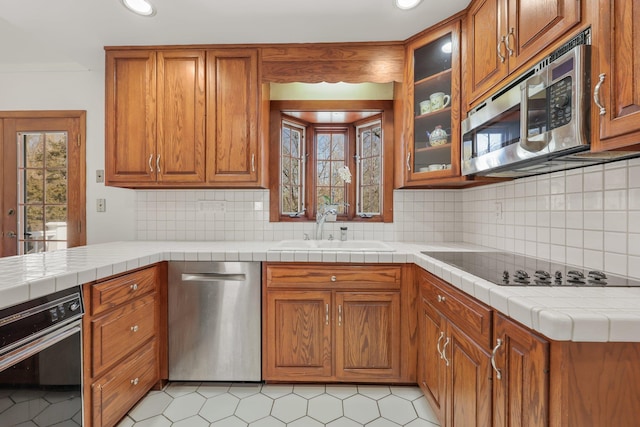
M 265 380 L 332 375 L 331 292 L 267 292 Z

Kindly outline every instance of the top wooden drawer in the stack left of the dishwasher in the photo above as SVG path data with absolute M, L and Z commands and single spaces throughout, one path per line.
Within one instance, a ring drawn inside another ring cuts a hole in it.
M 146 268 L 93 285 L 91 312 L 99 314 L 156 289 L 157 267 Z

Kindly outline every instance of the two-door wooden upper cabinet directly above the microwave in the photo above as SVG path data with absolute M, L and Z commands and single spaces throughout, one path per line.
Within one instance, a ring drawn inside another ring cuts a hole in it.
M 475 0 L 467 15 L 464 81 L 473 104 L 580 22 L 576 0 Z

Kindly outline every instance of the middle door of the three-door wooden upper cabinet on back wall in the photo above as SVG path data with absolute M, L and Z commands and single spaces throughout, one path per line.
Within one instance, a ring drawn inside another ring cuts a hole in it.
M 160 182 L 205 180 L 205 80 L 203 50 L 158 52 L 158 141 Z

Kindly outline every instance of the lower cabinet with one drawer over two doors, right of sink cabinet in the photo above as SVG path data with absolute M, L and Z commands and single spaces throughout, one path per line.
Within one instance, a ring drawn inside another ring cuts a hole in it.
M 442 426 L 489 426 L 488 341 L 479 343 L 471 338 L 474 331 L 465 331 L 458 325 L 469 322 L 469 317 L 460 317 L 469 311 L 482 319 L 478 325 L 486 324 L 491 312 L 471 300 L 461 303 L 467 297 L 453 288 L 445 289 L 447 285 L 429 273 L 422 271 L 418 277 L 421 296 L 418 385 Z

